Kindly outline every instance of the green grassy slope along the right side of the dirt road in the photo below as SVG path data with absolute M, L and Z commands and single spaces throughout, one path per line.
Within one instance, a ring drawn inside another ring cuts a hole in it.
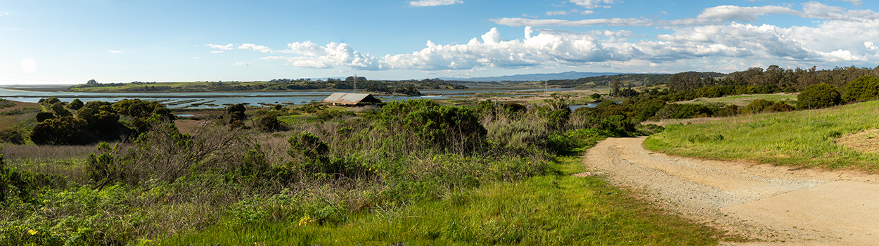
M 644 145 L 672 155 L 749 160 L 795 167 L 875 173 L 879 155 L 834 141 L 843 134 L 879 127 L 879 101 L 830 109 L 781 112 L 671 125 Z M 717 137 L 722 136 L 722 139 Z

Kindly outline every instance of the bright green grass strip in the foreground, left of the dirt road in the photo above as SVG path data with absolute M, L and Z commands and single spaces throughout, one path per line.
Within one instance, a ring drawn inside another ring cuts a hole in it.
M 307 218 L 218 225 L 173 235 L 156 245 L 714 245 L 722 234 L 666 215 L 582 171 L 578 157 L 562 157 L 555 174 L 450 192 L 410 206 L 385 205 L 349 214 L 338 225 Z M 306 222 L 303 222 L 306 221 Z

